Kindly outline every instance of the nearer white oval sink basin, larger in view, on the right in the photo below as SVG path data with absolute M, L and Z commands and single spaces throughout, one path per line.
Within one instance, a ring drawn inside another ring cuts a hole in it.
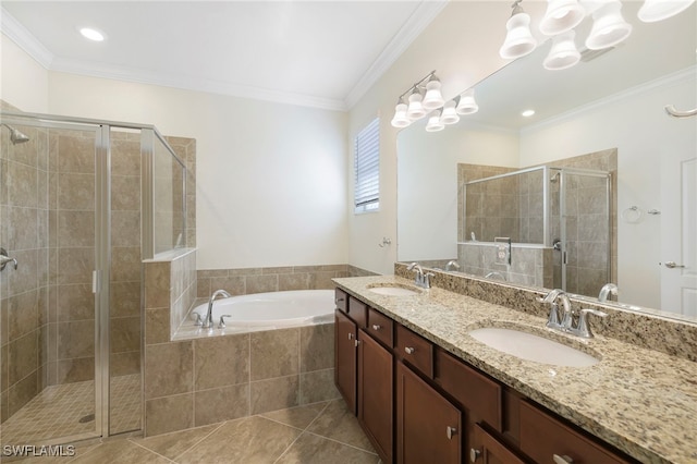
M 583 351 L 519 330 L 489 327 L 472 330 L 468 334 L 494 350 L 536 363 L 586 367 L 600 362 Z

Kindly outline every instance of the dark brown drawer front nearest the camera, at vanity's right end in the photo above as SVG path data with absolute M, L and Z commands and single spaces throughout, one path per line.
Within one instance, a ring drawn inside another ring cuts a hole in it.
M 521 451 L 539 463 L 555 462 L 554 455 L 561 459 L 567 456 L 573 461 L 566 461 L 574 463 L 632 462 L 527 401 L 521 402 Z

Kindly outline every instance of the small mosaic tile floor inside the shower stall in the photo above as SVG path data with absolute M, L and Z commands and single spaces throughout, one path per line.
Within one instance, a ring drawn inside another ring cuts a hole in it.
M 114 377 L 111 398 L 114 405 L 111 428 L 119 432 L 139 429 L 140 376 Z M 94 414 L 93 380 L 47 387 L 0 426 L 0 442 L 40 444 L 60 437 L 88 434 L 95 431 Z M 87 417 L 89 415 L 91 417 Z

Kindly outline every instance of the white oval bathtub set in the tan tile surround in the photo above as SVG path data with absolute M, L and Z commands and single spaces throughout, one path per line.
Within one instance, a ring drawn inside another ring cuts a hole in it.
M 332 322 L 334 314 L 333 290 L 292 290 L 286 292 L 252 293 L 216 300 L 213 323 L 218 327 L 220 316 L 228 327 L 292 327 Z M 208 303 L 196 306 L 196 315 L 206 317 Z

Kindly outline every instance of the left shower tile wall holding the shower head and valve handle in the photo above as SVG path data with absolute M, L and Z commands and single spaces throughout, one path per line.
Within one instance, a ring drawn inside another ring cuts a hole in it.
M 0 422 L 46 384 L 48 133 L 17 129 L 32 141 L 12 145 L 9 131 L 0 132 L 0 245 L 20 262 L 0 272 Z

